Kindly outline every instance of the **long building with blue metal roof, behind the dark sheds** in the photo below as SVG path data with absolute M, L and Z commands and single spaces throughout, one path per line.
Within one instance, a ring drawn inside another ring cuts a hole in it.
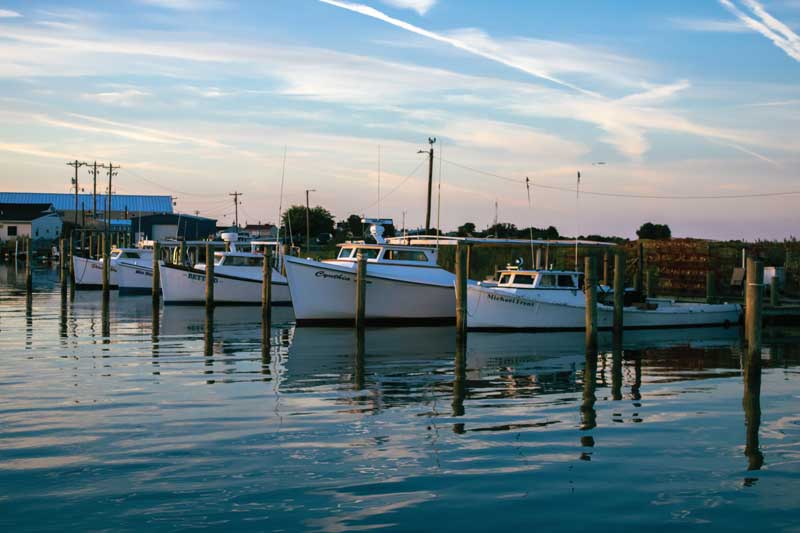
M 91 225 L 95 218 L 105 218 L 106 195 L 78 194 L 77 213 L 74 193 L 0 192 L 0 204 L 4 203 L 52 205 L 64 222 L 84 226 Z M 97 215 L 93 216 L 95 206 Z M 111 196 L 111 218 L 172 213 L 172 206 L 171 196 L 114 194 Z

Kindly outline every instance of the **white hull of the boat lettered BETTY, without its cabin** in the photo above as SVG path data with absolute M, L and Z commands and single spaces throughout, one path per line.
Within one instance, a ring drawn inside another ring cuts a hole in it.
M 289 286 L 273 272 L 272 305 L 291 305 Z M 167 305 L 205 305 L 206 273 L 203 270 L 162 264 L 161 293 Z M 261 280 L 214 274 L 215 305 L 260 305 Z

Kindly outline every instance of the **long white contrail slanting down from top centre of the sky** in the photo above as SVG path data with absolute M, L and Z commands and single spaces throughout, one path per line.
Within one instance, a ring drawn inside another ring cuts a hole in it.
M 585 94 L 585 95 L 588 95 L 588 96 L 592 96 L 594 98 L 605 98 L 605 97 L 603 97 L 602 95 L 600 95 L 600 94 L 598 94 L 596 92 L 583 89 L 581 87 L 578 87 L 577 85 L 573 85 L 573 84 L 571 84 L 571 83 L 569 83 L 567 81 L 564 81 L 564 80 L 561 80 L 561 79 L 556 78 L 554 76 L 551 76 L 551 75 L 549 75 L 546 72 L 543 72 L 541 70 L 532 69 L 532 68 L 527 67 L 525 65 L 520 65 L 520 64 L 515 63 L 513 61 L 510 61 L 510 60 L 508 60 L 508 59 L 506 59 L 506 58 L 504 58 L 502 56 L 499 56 L 497 54 L 493 54 L 491 52 L 487 52 L 486 50 L 481 50 L 480 48 L 476 48 L 476 47 L 474 47 L 472 45 L 469 45 L 469 44 L 467 44 L 467 43 L 465 43 L 463 41 L 460 41 L 459 39 L 454 39 L 452 37 L 447 37 L 445 35 L 441 35 L 439 33 L 432 32 L 432 31 L 426 30 L 424 28 L 420 28 L 419 26 L 414 26 L 413 24 L 409 24 L 408 22 L 405 22 L 405 21 L 390 17 L 386 13 L 383 13 L 382 11 L 378 11 L 377 9 L 375 9 L 373 7 L 370 7 L 370 6 L 367 6 L 367 5 L 364 5 L 364 4 L 354 4 L 352 2 L 343 2 L 341 0 L 319 0 L 319 1 L 324 3 L 324 4 L 329 4 L 329 5 L 332 5 L 332 6 L 335 6 L 335 7 L 346 9 L 348 11 L 352 11 L 354 13 L 359 13 L 359 14 L 367 16 L 367 17 L 371 17 L 371 18 L 374 18 L 374 19 L 382 20 L 383 22 L 386 22 L 387 24 L 391 24 L 392 26 L 404 29 L 406 31 L 410 31 L 411 33 L 416 33 L 417 35 L 422 35 L 423 37 L 427 37 L 428 39 L 432 39 L 434 41 L 439 41 L 441 43 L 449 44 L 450 46 L 458 48 L 459 50 L 464 50 L 465 52 L 469 52 L 470 54 L 474 54 L 476 56 L 480 56 L 480 57 L 482 57 L 484 59 L 488 59 L 490 61 L 495 61 L 495 62 L 500 63 L 502 65 L 505 65 L 507 67 L 510 67 L 510 68 L 525 72 L 526 74 L 530 74 L 531 76 L 535 76 L 537 78 L 541 78 L 541 79 L 547 80 L 547 81 L 555 83 L 557 85 L 561 85 L 562 87 L 567 87 L 568 89 L 572 89 L 573 91 L 577 91 L 579 93 L 582 93 L 582 94 Z

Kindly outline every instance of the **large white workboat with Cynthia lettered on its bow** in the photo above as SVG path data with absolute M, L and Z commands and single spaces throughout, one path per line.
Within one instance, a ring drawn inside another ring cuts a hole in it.
M 364 219 L 375 244 L 339 245 L 336 259 L 285 257 L 298 325 L 351 324 L 356 308 L 357 257 L 366 258 L 365 320 L 370 324 L 445 324 L 455 321 L 455 276 L 437 264 L 429 246 L 388 244 L 388 219 Z

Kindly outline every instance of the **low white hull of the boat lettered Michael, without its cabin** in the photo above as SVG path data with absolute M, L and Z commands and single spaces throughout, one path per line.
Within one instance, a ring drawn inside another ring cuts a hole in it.
M 669 304 L 647 310 L 627 307 L 623 310 L 623 325 L 625 329 L 722 326 L 737 323 L 740 316 L 741 307 L 736 304 Z M 470 330 L 582 330 L 585 320 L 586 307 L 574 302 L 520 296 L 472 284 L 467 288 Z M 598 304 L 598 328 L 611 329 L 613 324 L 613 307 Z

